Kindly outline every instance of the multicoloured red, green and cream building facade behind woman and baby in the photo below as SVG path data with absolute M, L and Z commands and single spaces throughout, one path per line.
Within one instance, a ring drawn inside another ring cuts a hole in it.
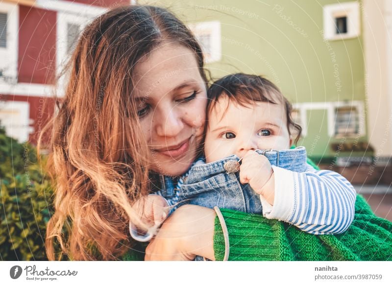
M 80 31 L 130 2 L 136 1 L 0 3 L 0 120 L 8 133 L 36 142 L 53 112 L 53 103 L 45 109 L 43 102 L 53 92 L 61 96 L 63 83 L 56 91 L 53 83 Z M 390 167 L 392 1 L 137 2 L 169 7 L 187 23 L 215 79 L 247 72 L 275 83 L 294 103 L 299 144 L 317 162 L 333 169 L 367 165 L 369 177 L 376 167 Z

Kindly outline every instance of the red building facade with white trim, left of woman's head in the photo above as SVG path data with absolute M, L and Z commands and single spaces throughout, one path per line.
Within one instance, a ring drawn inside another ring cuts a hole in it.
M 54 82 L 83 27 L 129 0 L 2 0 L 0 121 L 11 137 L 37 142 L 53 114 Z M 59 82 L 61 84 L 61 82 Z

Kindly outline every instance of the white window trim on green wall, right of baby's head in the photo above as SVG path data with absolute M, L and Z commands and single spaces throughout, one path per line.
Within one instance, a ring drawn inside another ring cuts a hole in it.
M 358 134 L 347 135 L 349 137 L 365 136 L 365 113 L 363 101 L 335 101 L 335 102 L 304 102 L 293 104 L 293 108 L 298 110 L 300 115 L 300 126 L 302 135 L 305 137 L 308 133 L 307 111 L 310 110 L 327 110 L 328 136 L 335 138 L 335 110 L 340 107 L 355 107 L 358 110 L 359 130 Z

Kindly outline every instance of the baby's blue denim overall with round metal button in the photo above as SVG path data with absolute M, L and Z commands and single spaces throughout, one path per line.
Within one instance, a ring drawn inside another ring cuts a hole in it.
M 264 155 L 272 166 L 279 166 L 295 172 L 307 168 L 306 149 L 297 147 L 285 150 L 256 150 Z M 249 184 L 241 184 L 239 160 L 236 155 L 219 161 L 192 166 L 184 178 L 180 190 L 180 201 L 207 208 L 237 210 L 245 213 L 262 214 L 260 195 Z

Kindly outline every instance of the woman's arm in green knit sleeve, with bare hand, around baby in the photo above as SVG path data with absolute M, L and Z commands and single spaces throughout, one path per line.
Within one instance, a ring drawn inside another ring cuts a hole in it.
M 230 242 L 229 260 L 244 261 L 389 261 L 392 223 L 375 216 L 362 196 L 352 226 L 342 235 L 316 236 L 261 215 L 221 209 Z M 215 211 L 180 207 L 146 250 L 146 260 L 193 260 L 196 255 L 222 260 L 225 241 Z

